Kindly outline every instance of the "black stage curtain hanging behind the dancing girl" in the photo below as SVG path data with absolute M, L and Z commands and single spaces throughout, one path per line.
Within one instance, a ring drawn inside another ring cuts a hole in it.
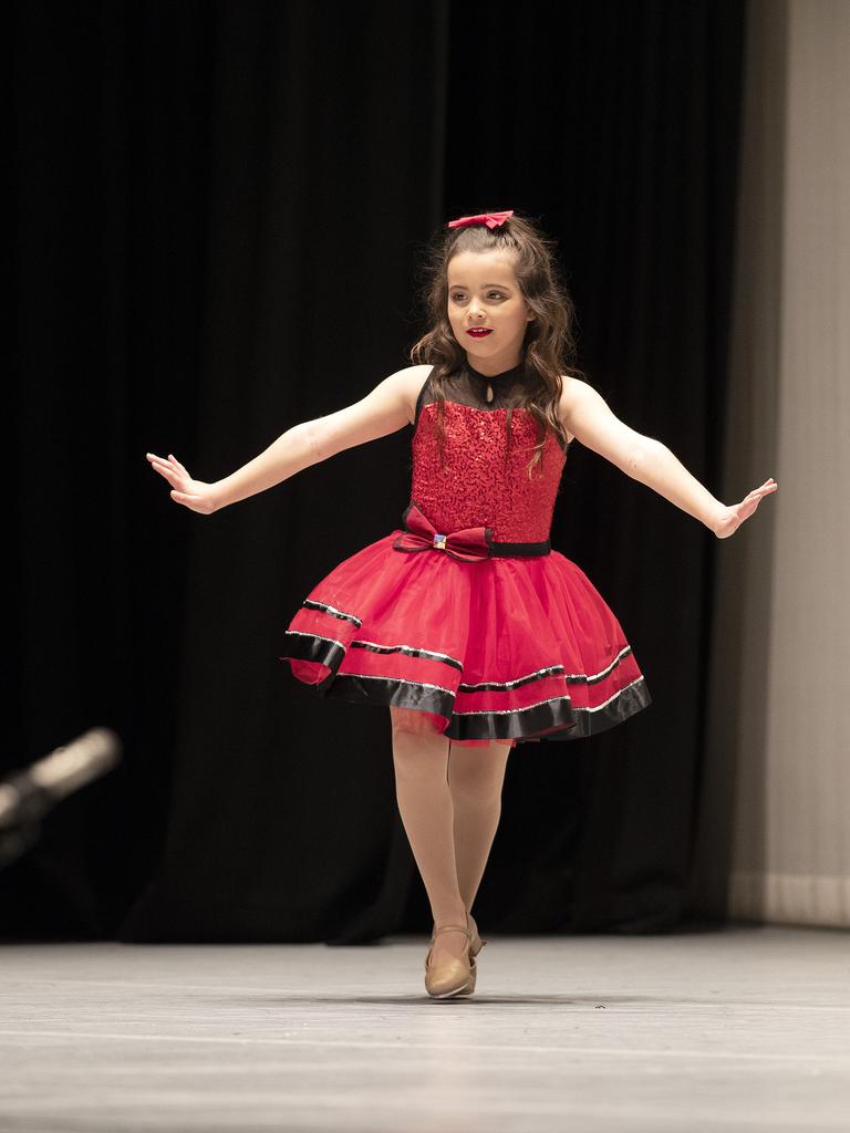
M 717 489 L 745 10 L 700 0 L 10 5 L 16 444 L 9 770 L 87 727 L 119 769 L 0 874 L 2 932 L 359 943 L 430 931 L 389 713 L 278 661 L 399 525 L 410 429 L 202 517 L 218 479 L 407 364 L 417 256 L 513 207 L 560 242 L 580 364 Z M 509 761 L 487 931 L 670 930 L 703 759 L 716 540 L 575 445 L 553 545 L 654 702 Z

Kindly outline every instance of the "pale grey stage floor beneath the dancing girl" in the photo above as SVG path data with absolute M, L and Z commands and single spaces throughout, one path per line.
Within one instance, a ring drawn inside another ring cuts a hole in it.
M 486 937 L 486 926 L 482 925 Z M 0 947 L 0 1130 L 850 1128 L 850 937 Z

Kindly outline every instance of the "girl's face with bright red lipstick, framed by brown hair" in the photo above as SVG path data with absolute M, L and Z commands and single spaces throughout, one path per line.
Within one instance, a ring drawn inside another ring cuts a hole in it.
M 469 364 L 482 374 L 517 366 L 526 326 L 534 318 L 519 290 L 509 256 L 459 252 L 449 261 L 448 315 Z M 469 333 L 479 329 L 479 333 Z M 488 333 L 481 333 L 486 330 Z

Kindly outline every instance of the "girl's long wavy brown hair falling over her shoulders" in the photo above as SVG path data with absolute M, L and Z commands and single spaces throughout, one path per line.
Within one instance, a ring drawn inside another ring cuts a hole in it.
M 561 375 L 584 378 L 584 370 L 575 365 L 576 320 L 572 299 L 567 291 L 558 261 L 556 244 L 545 236 L 537 223 L 526 216 L 509 216 L 502 224 L 490 229 L 486 224 L 461 228 L 442 228 L 425 246 L 419 274 L 419 301 L 424 305 L 431 330 L 410 348 L 414 364 L 431 364 L 434 369 L 431 384 L 437 401 L 437 435 L 442 452 L 445 435 L 445 380 L 466 361 L 466 351 L 454 338 L 448 315 L 448 267 L 452 256 L 461 252 L 501 252 L 511 261 L 519 290 L 535 315 L 526 327 L 522 341 L 522 364 L 528 387 L 522 408 L 528 409 L 538 425 L 537 444 L 526 469 L 532 470 L 543 454 L 546 434 L 554 433 L 564 450 L 568 449 L 567 431 L 558 414 L 563 391 Z M 507 415 L 510 443 L 511 410 Z

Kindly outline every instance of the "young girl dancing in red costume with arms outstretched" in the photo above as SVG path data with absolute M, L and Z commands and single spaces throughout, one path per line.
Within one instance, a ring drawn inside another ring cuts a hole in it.
M 431 996 L 475 989 L 470 910 L 501 815 L 511 748 L 612 727 L 651 704 L 617 617 L 549 543 L 569 445 L 654 488 L 719 538 L 777 487 L 724 506 L 661 442 L 577 375 L 554 242 L 513 211 L 451 221 L 427 265 L 431 327 L 413 366 L 363 400 L 295 425 L 214 484 L 147 453 L 177 503 L 211 514 L 334 453 L 411 425 L 402 523 L 340 563 L 284 633 L 317 692 L 389 706 L 399 811 L 434 929 Z

